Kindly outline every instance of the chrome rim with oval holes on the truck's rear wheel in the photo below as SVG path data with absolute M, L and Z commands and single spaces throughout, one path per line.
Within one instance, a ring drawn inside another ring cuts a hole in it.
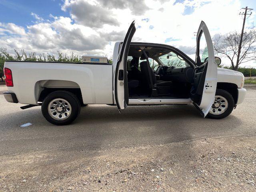
M 56 120 L 65 120 L 71 114 L 72 108 L 70 103 L 62 98 L 52 100 L 48 104 L 48 113 Z

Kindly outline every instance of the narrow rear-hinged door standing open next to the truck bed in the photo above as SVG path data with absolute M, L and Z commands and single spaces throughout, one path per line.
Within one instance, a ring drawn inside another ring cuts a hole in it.
M 130 48 L 130 43 L 135 31 L 135 21 L 133 21 L 124 38 L 124 42 L 122 43 L 122 46 L 120 48 L 118 60 L 116 63 L 114 97 L 119 112 L 121 109 L 126 108 L 129 102 L 127 82 L 127 56 Z

